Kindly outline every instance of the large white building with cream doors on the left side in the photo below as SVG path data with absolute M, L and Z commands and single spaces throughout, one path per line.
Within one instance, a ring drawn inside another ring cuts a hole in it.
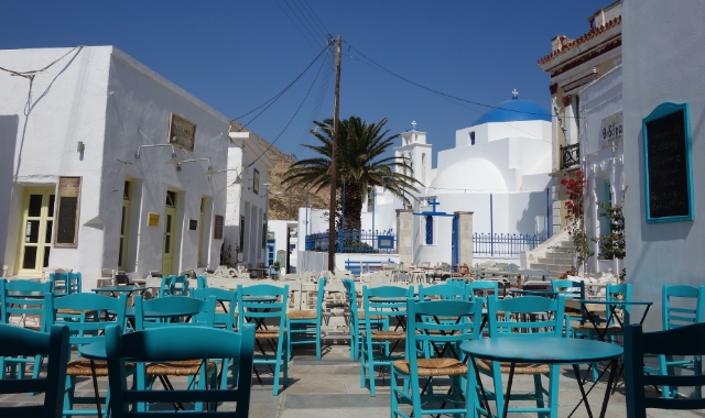
M 230 184 L 207 170 L 248 164 L 229 155 L 240 152 L 229 119 L 112 46 L 0 51 L 3 68 L 50 64 L 32 79 L 0 73 L 6 274 L 68 267 L 90 288 L 100 268 L 144 277 L 217 266 Z M 259 167 L 259 182 L 262 164 L 248 172 Z

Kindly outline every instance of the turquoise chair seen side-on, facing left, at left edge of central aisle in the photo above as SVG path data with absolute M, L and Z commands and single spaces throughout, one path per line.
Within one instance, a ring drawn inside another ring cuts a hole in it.
M 292 345 L 315 344 L 316 360 L 321 360 L 321 321 L 323 320 L 323 296 L 325 294 L 326 278 L 318 278 L 318 294 L 316 295 L 316 309 L 290 310 L 286 312 L 286 352 L 293 355 Z

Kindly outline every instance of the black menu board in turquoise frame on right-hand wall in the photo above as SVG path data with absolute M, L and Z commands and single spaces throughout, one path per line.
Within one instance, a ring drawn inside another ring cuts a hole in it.
M 661 103 L 642 120 L 647 223 L 695 219 L 690 124 L 687 103 Z

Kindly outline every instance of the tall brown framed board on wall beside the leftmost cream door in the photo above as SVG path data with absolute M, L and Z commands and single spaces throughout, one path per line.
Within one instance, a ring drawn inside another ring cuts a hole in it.
M 54 246 L 78 245 L 78 210 L 80 208 L 80 177 L 59 177 L 56 197 L 56 231 Z

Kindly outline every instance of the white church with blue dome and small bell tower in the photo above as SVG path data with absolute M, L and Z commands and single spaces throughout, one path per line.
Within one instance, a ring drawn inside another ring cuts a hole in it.
M 511 100 L 456 131 L 455 147 L 438 152 L 437 168 L 432 168 L 433 145 L 427 143 L 426 132 L 417 131 L 415 122 L 412 125 L 401 134 L 401 145 L 394 153 L 408 158 L 423 187 L 411 195 L 411 208 L 376 187 L 362 208 L 364 230 L 395 233 L 398 210 L 413 209 L 415 264 L 458 263 L 458 212 L 473 212 L 475 262 L 517 262 L 519 252 L 528 250 L 520 245 L 519 234 L 534 243 L 551 234 L 549 184 L 553 156 L 547 110 L 520 100 L 512 91 Z M 306 217 L 303 211 L 300 231 L 326 231 L 327 222 L 317 219 L 321 213 L 313 211 Z M 508 237 L 514 241 L 508 242 Z

